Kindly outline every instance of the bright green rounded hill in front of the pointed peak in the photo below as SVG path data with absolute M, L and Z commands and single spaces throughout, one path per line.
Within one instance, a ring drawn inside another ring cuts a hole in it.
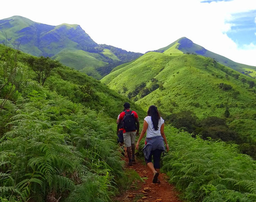
M 182 111 L 192 112 L 199 121 L 219 117 L 242 137 L 243 140 L 236 143 L 253 144 L 250 149 L 254 153 L 256 90 L 253 78 L 211 58 L 177 52 L 171 55 L 149 52 L 115 69 L 101 82 L 133 99 L 143 109 L 155 104 L 170 121 L 173 121 L 172 114 Z M 186 114 L 178 115 L 186 117 Z M 211 133 L 219 133 L 217 136 L 225 139 L 226 124 L 220 124 L 222 129 L 212 128 Z M 190 132 L 197 133 L 197 127 L 201 127 L 200 124 Z M 230 136 L 227 139 L 236 139 Z

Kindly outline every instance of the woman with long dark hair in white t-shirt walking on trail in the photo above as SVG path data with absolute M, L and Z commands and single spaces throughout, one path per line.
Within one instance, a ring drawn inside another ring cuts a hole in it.
M 153 172 L 153 183 L 160 183 L 158 180 L 159 169 L 160 169 L 160 157 L 163 151 L 165 151 L 164 142 L 166 145 L 167 152 L 169 146 L 164 134 L 164 120 L 160 117 L 157 107 L 151 105 L 148 110 L 148 116 L 145 117 L 143 123 L 143 129 L 140 133 L 139 139 L 136 144 L 136 149 L 139 149 L 139 142 L 147 132 L 145 146 L 143 147 L 143 154 L 147 166 Z M 152 163 L 152 155 L 154 165 Z

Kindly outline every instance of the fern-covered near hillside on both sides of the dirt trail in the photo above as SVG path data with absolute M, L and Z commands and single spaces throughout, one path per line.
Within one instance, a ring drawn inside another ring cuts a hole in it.
M 39 59 L 47 69 L 49 59 Z M 123 172 L 115 140 L 116 115 L 127 99 L 62 65 L 42 86 L 31 60 L 0 45 L 0 201 L 113 201 L 139 180 Z M 145 116 L 134 103 L 132 108 Z M 165 132 L 170 152 L 162 171 L 184 200 L 256 200 L 255 161 L 239 154 L 237 145 L 169 126 Z

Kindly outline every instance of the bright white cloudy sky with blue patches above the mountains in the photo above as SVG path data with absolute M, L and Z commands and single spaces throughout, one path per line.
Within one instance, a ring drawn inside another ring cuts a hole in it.
M 78 24 L 99 44 L 145 53 L 187 37 L 235 62 L 256 66 L 256 0 L 12 0 L 0 19 Z

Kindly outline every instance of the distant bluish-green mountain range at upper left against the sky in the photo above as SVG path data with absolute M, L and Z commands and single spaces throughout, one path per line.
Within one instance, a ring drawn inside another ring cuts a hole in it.
M 22 16 L 0 20 L 0 43 L 19 46 L 20 50 L 34 56 L 53 57 L 97 79 L 115 66 L 142 55 L 97 44 L 79 25 L 51 26 Z

